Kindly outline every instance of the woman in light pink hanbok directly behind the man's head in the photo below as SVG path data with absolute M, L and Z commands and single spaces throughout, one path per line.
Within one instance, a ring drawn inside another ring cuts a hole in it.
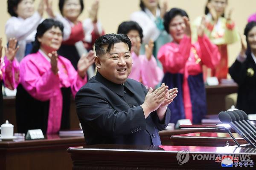
M 140 55 L 143 31 L 138 23 L 122 22 L 117 33 L 126 34 L 131 40 L 132 69 L 128 78 L 140 81 L 146 88 L 154 88 L 163 78 L 163 70 L 157 66 L 157 61 L 152 55 L 154 42 L 151 40 L 145 45 L 145 55 Z

